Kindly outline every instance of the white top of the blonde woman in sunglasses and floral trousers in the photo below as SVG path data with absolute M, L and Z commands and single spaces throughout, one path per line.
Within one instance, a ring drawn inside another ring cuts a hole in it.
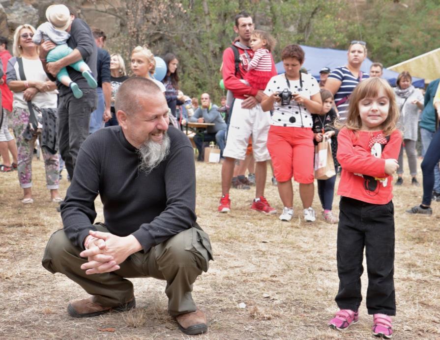
M 43 65 L 40 59 L 25 59 L 23 60 L 23 70 L 25 72 L 26 80 L 40 80 L 47 81 L 46 72 L 43 70 Z M 17 58 L 13 57 L 8 60 L 8 68 L 6 71 L 6 82 L 12 80 L 22 80 L 20 78 L 20 72 L 18 71 Z M 28 102 L 23 99 L 22 92 L 12 92 L 14 94 L 14 107 L 28 108 Z M 57 108 L 57 96 L 58 91 L 37 92 L 32 98 L 31 102 L 40 108 Z

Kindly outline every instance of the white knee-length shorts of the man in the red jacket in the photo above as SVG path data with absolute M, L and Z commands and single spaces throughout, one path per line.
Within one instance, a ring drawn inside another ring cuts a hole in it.
M 241 108 L 242 99 L 235 99 L 231 110 L 224 157 L 244 159 L 252 135 L 252 150 L 256 162 L 270 159 L 267 151 L 267 133 L 270 128 L 270 112 L 264 112 L 261 105 Z

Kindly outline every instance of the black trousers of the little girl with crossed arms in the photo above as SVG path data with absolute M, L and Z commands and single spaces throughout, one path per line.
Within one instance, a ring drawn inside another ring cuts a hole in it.
M 378 205 L 341 197 L 339 210 L 338 307 L 352 311 L 359 308 L 365 247 L 368 314 L 395 315 L 393 202 Z

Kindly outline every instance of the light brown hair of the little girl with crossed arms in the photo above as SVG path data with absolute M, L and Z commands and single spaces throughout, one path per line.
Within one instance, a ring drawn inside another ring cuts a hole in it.
M 388 117 L 382 123 L 381 129 L 385 136 L 390 135 L 396 130 L 396 124 L 399 120 L 399 107 L 396 104 L 394 91 L 388 84 L 388 81 L 382 78 L 368 78 L 361 81 L 350 96 L 350 104 L 348 109 L 347 121 L 341 123 L 336 122 L 335 126 L 340 129 L 346 127 L 352 131 L 360 131 L 362 121 L 359 114 L 359 102 L 364 98 L 375 98 L 379 95 L 379 91 L 383 90 L 385 96 L 389 100 Z

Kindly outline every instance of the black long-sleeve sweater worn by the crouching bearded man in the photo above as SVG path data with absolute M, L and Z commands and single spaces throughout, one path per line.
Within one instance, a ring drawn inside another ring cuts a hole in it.
M 148 175 L 139 171 L 137 149 L 119 126 L 91 134 L 81 145 L 72 183 L 61 205 L 64 231 L 84 248 L 100 195 L 104 224 L 118 236 L 134 235 L 144 251 L 196 222 L 194 151 L 186 135 L 170 127 L 170 154 Z

